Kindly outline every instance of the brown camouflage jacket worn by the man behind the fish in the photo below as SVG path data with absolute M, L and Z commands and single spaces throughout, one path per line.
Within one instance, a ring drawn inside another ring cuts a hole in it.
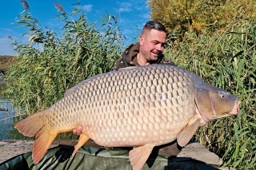
M 118 59 L 114 63 L 114 70 L 124 68 L 124 67 L 130 67 L 130 66 L 136 66 L 138 64 L 137 54 L 139 52 L 139 43 L 134 43 L 129 45 L 124 52 L 122 53 L 122 57 Z M 158 58 L 158 61 L 155 61 L 152 64 L 168 64 L 168 65 L 175 65 L 173 61 L 170 61 L 164 55 L 162 54 L 161 57 Z

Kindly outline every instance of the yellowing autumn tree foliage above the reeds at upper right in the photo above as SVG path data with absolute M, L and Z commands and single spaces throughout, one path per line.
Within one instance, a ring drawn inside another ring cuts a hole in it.
M 162 22 L 170 32 L 197 34 L 222 30 L 230 22 L 256 17 L 254 0 L 150 0 L 150 16 Z

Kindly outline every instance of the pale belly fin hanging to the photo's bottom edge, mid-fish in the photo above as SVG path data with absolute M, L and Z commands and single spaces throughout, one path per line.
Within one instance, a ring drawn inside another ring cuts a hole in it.
M 146 144 L 134 148 L 129 152 L 130 164 L 133 166 L 134 170 L 142 169 L 153 148 L 154 144 Z

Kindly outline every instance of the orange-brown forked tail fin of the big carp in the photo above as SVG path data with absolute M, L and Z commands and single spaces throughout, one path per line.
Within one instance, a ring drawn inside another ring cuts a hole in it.
M 44 114 L 44 111 L 35 113 L 14 125 L 14 128 L 17 128 L 18 132 L 21 132 L 23 135 L 35 136 L 32 152 L 34 164 L 38 164 L 42 160 L 50 144 L 58 135 L 58 131 L 54 131 L 54 128 L 45 124 L 43 121 Z

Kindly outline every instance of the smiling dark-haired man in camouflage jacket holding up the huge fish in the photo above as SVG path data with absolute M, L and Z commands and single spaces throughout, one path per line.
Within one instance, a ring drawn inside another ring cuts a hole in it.
M 142 29 L 139 42 L 129 45 L 122 53 L 122 57 L 114 64 L 114 70 L 129 67 L 143 66 L 151 64 L 174 65 L 163 55 L 163 49 L 166 45 L 166 28 L 160 22 L 149 21 Z M 82 127 L 79 126 L 73 130 L 74 134 L 80 135 Z M 165 144 L 154 148 L 153 152 L 164 156 L 176 156 L 181 148 L 177 142 Z

